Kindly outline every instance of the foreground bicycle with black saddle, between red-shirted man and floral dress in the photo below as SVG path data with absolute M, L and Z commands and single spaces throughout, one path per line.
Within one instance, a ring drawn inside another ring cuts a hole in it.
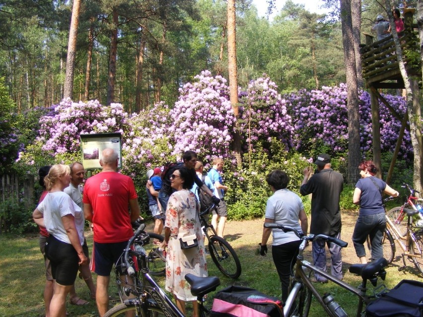
M 144 228 L 145 225 L 141 224 L 136 230 L 121 256 L 122 264 L 115 268 L 122 303 L 110 309 L 104 317 L 123 317 L 127 314 L 135 317 L 185 317 L 151 277 L 148 269 L 149 255 L 142 246 L 143 242 L 148 244 L 150 239 L 143 231 Z M 138 241 L 138 244 L 135 244 L 135 241 Z M 122 278 L 122 273 L 125 272 L 129 277 Z M 204 307 L 204 297 L 220 285 L 219 278 L 187 274 L 185 279 L 191 285 L 191 293 L 198 298 L 200 316 L 205 317 L 209 311 Z

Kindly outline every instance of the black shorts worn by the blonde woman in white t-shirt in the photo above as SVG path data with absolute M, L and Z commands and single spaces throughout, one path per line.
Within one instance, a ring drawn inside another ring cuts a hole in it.
M 73 246 L 50 235 L 45 250 L 51 261 L 53 279 L 60 285 L 73 285 L 79 268 L 79 256 Z

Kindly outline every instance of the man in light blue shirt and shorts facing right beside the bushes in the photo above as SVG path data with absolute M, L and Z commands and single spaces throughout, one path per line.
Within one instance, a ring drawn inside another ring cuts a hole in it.
M 215 210 L 212 211 L 213 216 L 211 218 L 211 224 L 216 229 L 217 235 L 223 238 L 223 230 L 225 229 L 225 223 L 228 216 L 228 210 L 223 196 L 224 190 L 227 190 L 228 188 L 222 184 L 222 177 L 219 173 L 223 170 L 223 160 L 215 157 L 212 164 L 213 167 L 210 169 L 209 173 L 207 173 L 207 176 L 210 177 L 211 182 L 214 185 L 214 195 L 220 198 L 220 203 L 216 206 Z M 220 219 L 219 224 L 217 225 L 218 217 L 220 217 Z

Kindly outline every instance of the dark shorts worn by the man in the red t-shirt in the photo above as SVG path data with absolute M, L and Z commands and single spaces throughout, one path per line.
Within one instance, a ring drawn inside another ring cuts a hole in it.
M 127 244 L 128 241 L 116 243 L 94 241 L 94 272 L 100 276 L 110 276 L 113 264 L 120 266 L 120 258 Z

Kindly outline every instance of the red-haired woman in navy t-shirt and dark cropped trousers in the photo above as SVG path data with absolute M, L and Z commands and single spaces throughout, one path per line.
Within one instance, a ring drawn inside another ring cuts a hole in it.
M 367 263 L 364 249 L 367 236 L 370 237 L 371 259 L 383 257 L 382 239 L 386 218 L 382 195 L 386 193 L 398 197 L 399 193 L 375 177 L 377 167 L 373 161 L 362 161 L 358 169 L 361 179 L 355 184 L 352 202 L 360 206 L 360 212 L 352 234 L 352 242 L 360 263 Z

